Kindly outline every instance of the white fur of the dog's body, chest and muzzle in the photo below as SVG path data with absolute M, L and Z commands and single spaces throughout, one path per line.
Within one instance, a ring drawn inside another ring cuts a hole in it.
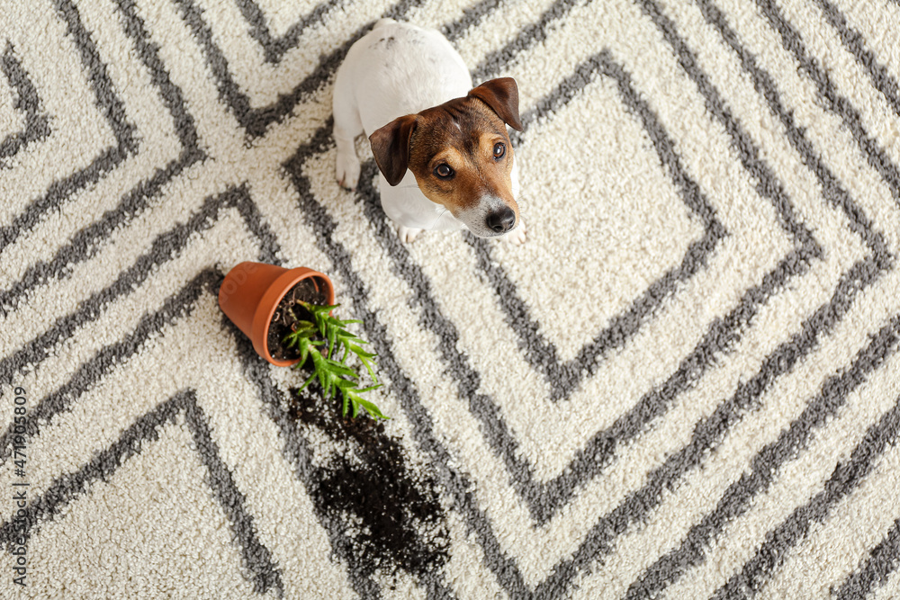
M 468 94 L 472 76 L 463 58 L 440 32 L 409 23 L 382 19 L 347 52 L 338 67 L 334 88 L 334 136 L 338 146 L 335 175 L 338 184 L 356 188 L 359 158 L 354 139 L 406 114 L 423 111 Z M 400 184 L 388 184 L 379 173 L 379 193 L 385 214 L 398 226 L 404 241 L 412 241 L 423 229 L 473 230 L 491 236 L 483 214 L 493 208 L 481 205 L 456 219 L 445 207 L 428 200 L 416 177 L 407 170 Z M 512 193 L 518 198 L 518 174 L 513 163 Z M 484 198 L 484 203 L 499 201 Z M 518 226 L 503 236 L 514 243 L 525 241 L 526 229 Z

